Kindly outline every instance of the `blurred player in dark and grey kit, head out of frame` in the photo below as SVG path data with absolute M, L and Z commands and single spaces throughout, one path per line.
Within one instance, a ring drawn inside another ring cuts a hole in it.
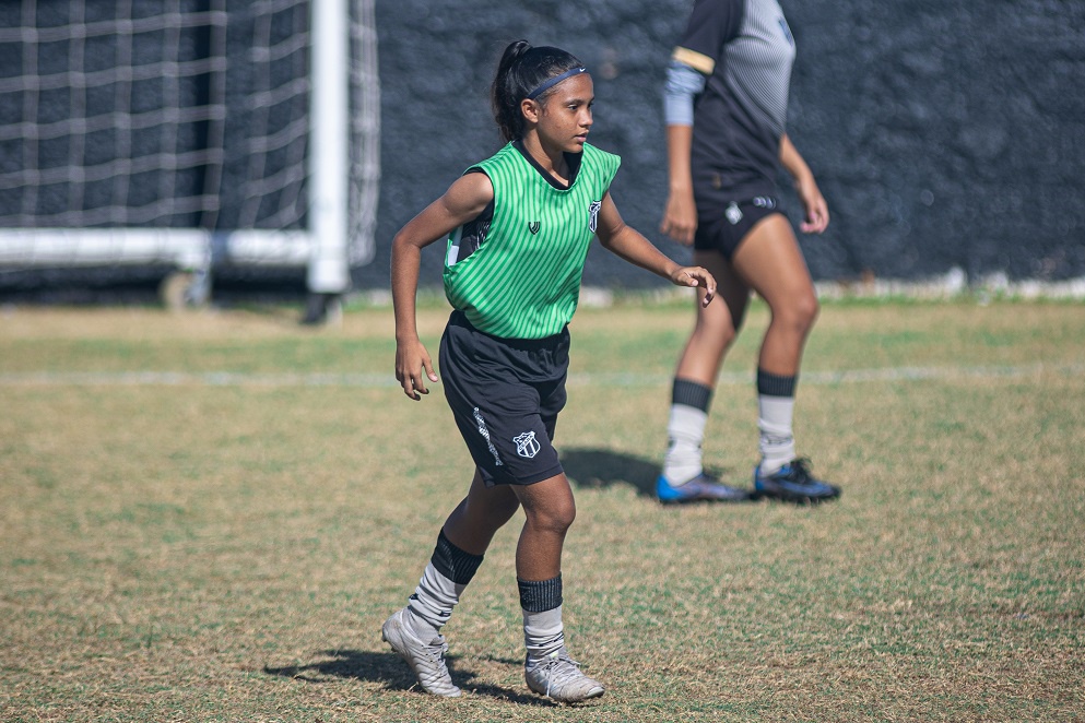
M 779 211 L 782 166 L 819 234 L 828 208 L 785 132 L 794 40 L 777 0 L 697 0 L 674 49 L 665 92 L 670 195 L 661 230 L 693 244 L 694 261 L 720 282 L 723 304 L 697 311 L 674 372 L 670 446 L 656 489 L 662 502 L 742 500 L 701 467 L 701 442 L 723 356 L 742 328 L 751 291 L 771 321 L 757 360 L 760 462 L 755 497 L 817 502 L 840 490 L 815 479 L 792 434 L 802 349 L 817 297 L 794 232 Z

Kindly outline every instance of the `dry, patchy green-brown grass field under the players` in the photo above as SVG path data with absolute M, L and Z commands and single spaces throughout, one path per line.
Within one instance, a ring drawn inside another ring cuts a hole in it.
M 422 311 L 436 356 L 446 317 Z M 436 700 L 380 641 L 471 474 L 440 386 L 392 378 L 391 312 L 0 310 L 4 721 L 1085 719 L 1085 307 L 832 303 L 797 435 L 837 503 L 662 508 L 685 305 L 573 324 L 570 649 L 522 677 L 518 524 L 445 632 Z M 745 483 L 765 309 L 707 461 Z

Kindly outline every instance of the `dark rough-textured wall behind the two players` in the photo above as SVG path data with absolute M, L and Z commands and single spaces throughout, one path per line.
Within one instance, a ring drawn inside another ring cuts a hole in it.
M 1085 274 L 1085 1 L 781 0 L 798 45 L 789 132 L 833 223 L 803 237 L 818 280 Z M 626 221 L 658 232 L 667 175 L 660 87 L 691 0 L 398 0 L 377 3 L 382 83 L 378 251 L 499 141 L 487 88 L 512 39 L 557 45 L 595 81 L 592 141 L 623 157 Z M 785 181 L 786 208 L 799 206 Z M 439 284 L 431 247 L 423 284 Z M 657 280 L 594 249 L 585 281 Z

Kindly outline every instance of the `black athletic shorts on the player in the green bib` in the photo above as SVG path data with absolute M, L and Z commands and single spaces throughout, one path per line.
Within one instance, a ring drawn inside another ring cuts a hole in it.
M 553 440 L 566 400 L 568 329 L 546 339 L 500 339 L 453 311 L 439 362 L 445 398 L 487 487 L 563 472 Z

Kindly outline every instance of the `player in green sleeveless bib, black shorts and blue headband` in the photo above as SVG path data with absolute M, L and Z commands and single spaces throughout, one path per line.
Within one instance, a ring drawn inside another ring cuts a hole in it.
M 553 446 L 566 399 L 567 324 L 588 247 L 598 236 L 627 261 L 700 287 L 705 305 L 716 294 L 711 274 L 680 266 L 622 221 L 608 191 L 620 159 L 586 142 L 593 97 L 591 75 L 568 52 L 509 45 L 492 87 L 508 144 L 470 167 L 392 240 L 396 378 L 418 400 L 427 380 L 437 381 L 415 325 L 418 261 L 423 248 L 448 239 L 444 281 L 453 311 L 440 371 L 475 464 L 414 594 L 382 628 L 422 688 L 438 696 L 460 694 L 440 629 L 494 534 L 521 507 L 516 577 L 528 687 L 563 702 L 603 695 L 565 647 L 562 546 L 576 506 Z

